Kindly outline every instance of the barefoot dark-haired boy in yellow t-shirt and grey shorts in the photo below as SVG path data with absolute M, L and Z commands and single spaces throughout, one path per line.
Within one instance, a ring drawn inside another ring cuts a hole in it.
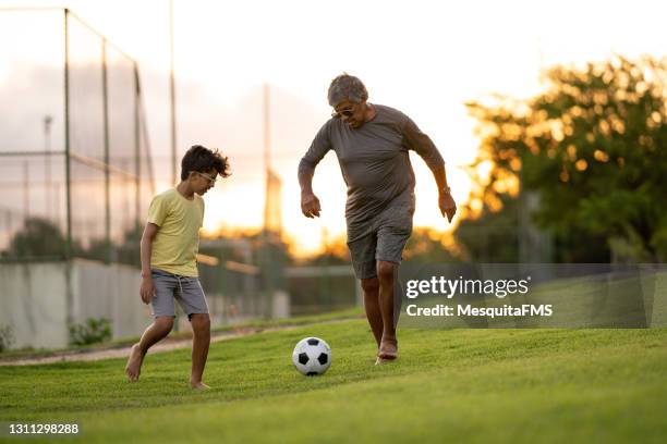
M 125 373 L 137 381 L 144 357 L 154 344 L 169 334 L 175 318 L 173 299 L 178 299 L 192 324 L 193 388 L 209 388 L 202 382 L 208 346 L 210 318 L 197 279 L 196 254 L 199 229 L 204 220 L 204 195 L 216 184 L 216 177 L 229 176 L 229 162 L 218 150 L 201 145 L 187 150 L 181 161 L 181 183 L 150 202 L 148 221 L 141 243 L 144 304 L 150 304 L 155 318 L 138 343 L 132 346 Z

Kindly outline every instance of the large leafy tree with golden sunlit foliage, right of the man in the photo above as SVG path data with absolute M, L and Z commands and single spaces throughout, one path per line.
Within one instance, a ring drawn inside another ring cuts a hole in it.
M 546 79 L 529 100 L 468 104 L 482 136 L 474 166 L 490 170 L 476 201 L 536 193 L 534 222 L 561 259 L 599 258 L 601 239 L 617 260 L 667 260 L 667 61 L 615 57 Z

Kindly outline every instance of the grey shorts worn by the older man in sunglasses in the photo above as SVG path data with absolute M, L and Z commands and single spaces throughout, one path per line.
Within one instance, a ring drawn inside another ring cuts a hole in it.
M 412 234 L 413 213 L 411 205 L 387 208 L 369 222 L 364 235 L 348 242 L 357 279 L 375 278 L 378 260 L 401 263 L 403 248 Z

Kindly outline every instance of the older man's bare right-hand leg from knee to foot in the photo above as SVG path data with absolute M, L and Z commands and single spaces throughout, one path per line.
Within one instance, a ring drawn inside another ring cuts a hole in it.
M 396 338 L 396 324 L 393 322 L 393 291 L 395 269 L 397 263 L 385 260 L 377 261 L 377 276 L 379 280 L 379 305 L 383 318 L 383 337 L 378 357 L 381 359 L 396 359 L 398 356 L 398 341 Z

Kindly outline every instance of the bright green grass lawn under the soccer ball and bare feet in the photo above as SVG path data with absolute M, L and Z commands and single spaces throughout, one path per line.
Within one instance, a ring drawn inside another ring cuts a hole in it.
M 292 367 L 308 335 L 332 348 L 324 377 Z M 206 393 L 187 388 L 187 349 L 149 355 L 135 384 L 121 359 L 0 367 L 0 421 L 77 422 L 86 443 L 667 436 L 667 330 L 402 329 L 400 338 L 400 360 L 379 367 L 363 320 L 216 343 Z

